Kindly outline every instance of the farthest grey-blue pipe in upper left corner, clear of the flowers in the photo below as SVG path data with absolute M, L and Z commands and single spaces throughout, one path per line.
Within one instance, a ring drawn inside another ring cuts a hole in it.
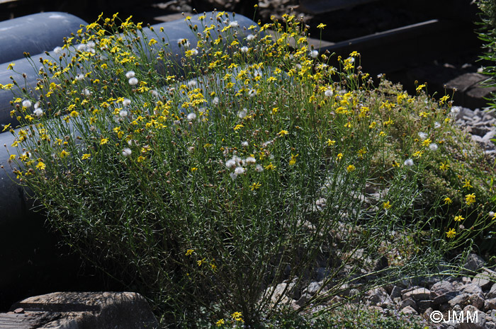
M 64 37 L 77 33 L 81 18 L 70 13 L 47 12 L 0 22 L 0 63 L 23 58 L 24 52 L 40 54 L 64 45 Z

